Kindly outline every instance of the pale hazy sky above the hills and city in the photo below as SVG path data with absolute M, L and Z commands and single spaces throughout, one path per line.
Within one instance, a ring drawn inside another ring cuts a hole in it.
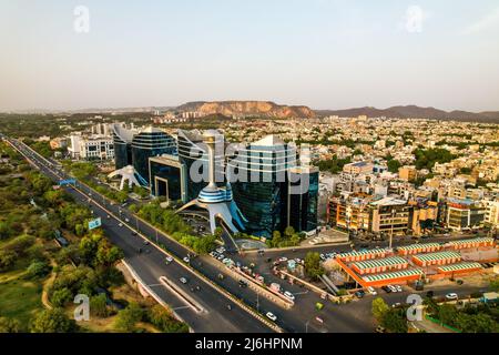
M 0 110 L 499 110 L 497 0 L 0 0 Z

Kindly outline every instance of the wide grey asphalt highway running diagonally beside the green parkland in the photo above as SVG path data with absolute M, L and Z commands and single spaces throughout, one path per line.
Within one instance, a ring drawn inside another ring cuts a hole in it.
M 17 143 L 16 141 L 12 143 L 14 143 L 23 154 L 27 154 L 26 146 L 20 145 L 20 143 Z M 67 178 L 62 174 L 55 175 L 44 165 L 45 163 L 40 158 L 35 155 L 28 158 L 37 164 L 42 173 L 50 176 L 54 181 L 59 181 L 61 178 Z M 78 187 L 80 189 L 83 186 L 80 185 Z M 112 217 L 112 215 L 108 219 L 108 212 L 101 209 L 95 203 L 95 200 L 91 200 L 91 203 L 88 203 L 88 195 L 82 195 L 80 192 L 71 187 L 68 187 L 67 191 L 75 199 L 78 203 L 89 205 L 94 212 L 95 217 L 101 217 L 102 227 L 108 237 L 112 243 L 123 250 L 126 263 L 140 276 L 141 281 L 145 283 L 162 301 L 169 304 L 194 332 L 271 332 L 271 328 L 268 328 L 265 324 L 253 317 L 240 305 L 230 301 L 225 295 L 205 283 L 196 274 L 179 265 L 177 262 L 174 261 L 166 265 L 165 254 L 152 245 L 145 245 L 144 240 L 141 236 L 132 234 L 132 230 L 128 227 L 125 222 L 120 222 Z M 92 193 L 92 197 L 95 197 L 94 193 Z M 96 202 L 102 204 L 105 200 L 96 199 Z M 118 206 L 111 206 L 109 203 L 105 204 L 105 207 L 111 207 L 110 210 L 114 210 L 112 212 L 118 212 L 116 209 L 113 209 Z M 131 216 L 129 216 L 129 219 L 130 217 Z M 123 223 L 123 226 L 120 226 L 120 223 Z M 143 224 L 139 224 L 139 226 L 141 227 L 141 232 L 144 234 L 147 232 L 149 235 L 155 234 L 151 227 Z M 160 242 L 166 242 L 163 240 L 165 239 L 164 236 L 159 235 L 159 237 Z M 139 253 L 139 248 L 142 248 L 143 252 Z M 182 255 L 182 257 L 186 255 L 185 252 L 179 254 L 180 255 L 177 256 Z M 200 314 L 187 307 L 181 298 L 161 285 L 159 281 L 161 276 L 165 276 L 176 287 L 183 288 L 186 293 L 189 293 L 190 296 L 204 308 L 204 312 Z M 182 284 L 179 281 L 180 277 L 186 277 L 189 283 L 186 285 Z M 192 292 L 191 288 L 195 288 L 196 286 L 200 286 L 200 291 Z M 228 310 L 227 305 L 231 305 L 232 310 Z

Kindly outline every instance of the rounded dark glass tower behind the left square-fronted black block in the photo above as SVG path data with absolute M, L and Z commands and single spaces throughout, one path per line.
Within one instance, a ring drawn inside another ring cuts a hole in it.
M 170 134 L 151 126 L 133 136 L 133 168 L 147 183 L 150 183 L 149 159 L 162 154 L 176 154 L 175 139 Z

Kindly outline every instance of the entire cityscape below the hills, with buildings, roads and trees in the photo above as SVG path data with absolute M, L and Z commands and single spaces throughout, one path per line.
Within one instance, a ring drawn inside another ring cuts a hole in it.
M 4 332 L 498 331 L 497 124 L 2 123 Z M 72 317 L 80 294 L 90 321 Z M 407 320 L 415 294 L 424 317 Z

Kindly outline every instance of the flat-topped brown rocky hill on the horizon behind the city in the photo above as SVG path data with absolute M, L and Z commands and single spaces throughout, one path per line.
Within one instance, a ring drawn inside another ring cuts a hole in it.
M 275 119 L 315 118 L 316 113 L 307 106 L 281 105 L 271 101 L 214 101 L 189 102 L 176 108 L 177 111 L 196 111 L 203 115 L 223 114 L 227 116 L 267 116 Z

